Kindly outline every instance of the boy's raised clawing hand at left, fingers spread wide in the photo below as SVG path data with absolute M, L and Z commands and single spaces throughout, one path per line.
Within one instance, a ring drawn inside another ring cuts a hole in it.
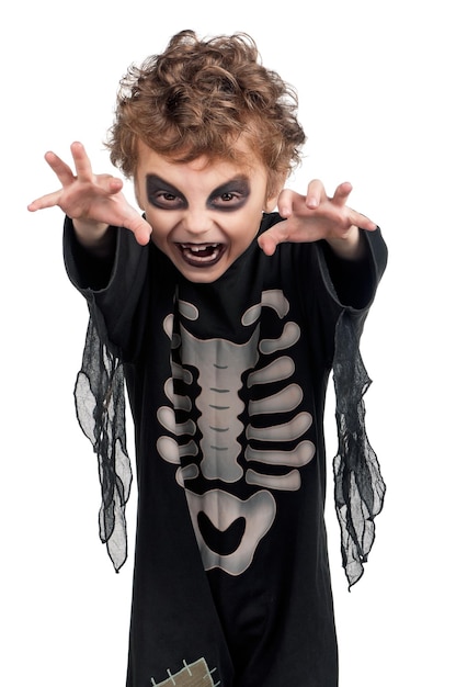
M 123 182 L 111 174 L 94 174 L 81 143 L 71 145 L 76 173 L 55 153 L 46 153 L 45 160 L 56 173 L 61 189 L 36 199 L 29 205 L 31 212 L 59 206 L 75 222 L 82 240 L 90 245 L 103 236 L 106 228 L 123 226 L 130 229 L 136 240 L 146 245 L 151 227 L 121 192 Z

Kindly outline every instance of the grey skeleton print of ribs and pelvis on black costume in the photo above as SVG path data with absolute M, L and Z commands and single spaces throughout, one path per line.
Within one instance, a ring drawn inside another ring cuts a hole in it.
M 298 341 L 300 328 L 295 322 L 286 320 L 277 338 L 260 340 L 259 318 L 263 307 L 272 308 L 278 320 L 288 313 L 288 302 L 278 290 L 264 291 L 261 303 L 243 314 L 241 325 L 251 329 L 256 323 L 253 334 L 243 344 L 224 338 L 196 338 L 184 322 L 197 320 L 197 308 L 183 301 L 178 305 L 179 331 L 175 331 L 173 315 L 163 323 L 172 349 L 179 349 L 180 362 L 172 362 L 172 378 L 166 383 L 170 405 L 158 410 L 159 423 L 169 435 L 161 436 L 157 447 L 163 460 L 179 466 L 176 480 L 185 488 L 205 570 L 220 567 L 230 575 L 240 575 L 251 564 L 259 542 L 274 522 L 276 502 L 272 491 L 299 489 L 298 468 L 306 465 L 315 454 L 311 441 L 299 441 L 311 426 L 312 418 L 309 413 L 297 410 L 304 394 L 298 384 L 290 382 L 295 363 L 286 354 L 286 350 Z M 176 394 L 174 382 L 179 380 L 190 388 L 193 370 L 197 371 L 198 395 L 192 398 L 191 395 Z M 278 392 L 277 382 L 282 386 Z M 275 392 L 267 395 L 267 385 L 272 383 Z M 250 401 L 247 408 L 239 394 L 243 384 L 248 388 L 258 385 L 264 388 L 264 395 L 255 394 L 255 399 Z M 196 413 L 192 413 L 195 408 Z M 240 419 L 246 416 L 246 409 L 247 426 Z M 296 414 L 285 424 L 269 421 L 265 425 L 263 421 L 256 426 L 254 423 L 256 416 L 274 418 L 274 414 L 295 409 Z M 185 421 L 176 423 L 178 410 L 181 417 L 187 418 Z M 244 448 L 239 442 L 240 437 L 244 437 Z M 258 448 L 262 443 L 264 449 Z M 284 443 L 295 448 L 285 450 Z M 251 466 L 254 464 L 260 464 L 262 471 Z M 281 474 L 269 473 L 269 465 L 281 466 Z M 191 489 L 191 482 L 196 477 L 204 477 L 207 482 L 203 494 Z M 215 480 L 224 483 L 223 489 L 210 488 L 210 482 Z M 230 492 L 230 485 L 240 480 L 252 487 L 252 495 L 244 500 Z M 244 529 L 235 551 L 220 553 L 210 548 L 201 531 L 201 514 L 218 532 L 226 532 L 239 518 L 243 519 Z

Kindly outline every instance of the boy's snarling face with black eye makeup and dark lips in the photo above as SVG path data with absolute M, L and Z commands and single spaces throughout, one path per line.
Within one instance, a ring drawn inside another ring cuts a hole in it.
M 190 281 L 214 282 L 255 238 L 266 198 L 267 170 L 228 160 L 172 162 L 138 144 L 135 192 L 152 227 L 151 240 Z

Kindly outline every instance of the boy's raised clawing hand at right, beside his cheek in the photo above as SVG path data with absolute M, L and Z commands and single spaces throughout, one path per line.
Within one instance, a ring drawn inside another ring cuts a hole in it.
M 277 210 L 284 221 L 260 236 L 260 247 L 272 256 L 282 243 L 324 239 L 341 256 L 357 258 L 361 249 L 358 228 L 373 232 L 377 225 L 347 207 L 346 201 L 351 192 L 351 183 L 344 182 L 329 198 L 319 180 L 309 183 L 307 195 L 285 189 L 277 202 Z

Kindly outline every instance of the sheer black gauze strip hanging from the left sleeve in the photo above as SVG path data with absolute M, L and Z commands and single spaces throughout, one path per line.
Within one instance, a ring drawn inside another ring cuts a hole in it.
M 125 506 L 132 485 L 126 451 L 124 373 L 121 360 L 100 335 L 102 323 L 89 320 L 82 367 L 75 387 L 76 412 L 99 460 L 102 492 L 100 538 L 116 572 L 127 558 Z

